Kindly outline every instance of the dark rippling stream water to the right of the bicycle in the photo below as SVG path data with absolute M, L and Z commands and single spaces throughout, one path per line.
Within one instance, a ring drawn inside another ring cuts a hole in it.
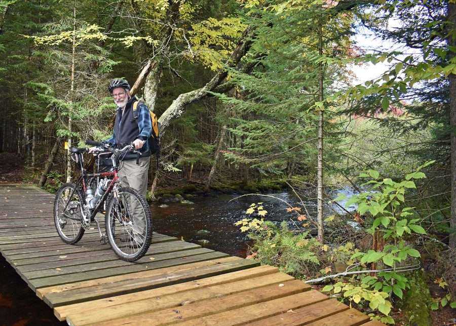
M 353 194 L 350 188 L 344 188 L 331 192 L 331 198 L 344 193 L 347 197 Z M 290 218 L 296 221 L 296 214 L 287 212 L 286 201 L 292 206 L 301 206 L 300 200 L 291 191 L 269 193 L 267 196 L 243 196 L 236 194 L 222 194 L 211 197 L 195 197 L 194 204 L 166 203 L 153 204 L 150 206 L 154 221 L 154 231 L 182 238 L 185 241 L 196 242 L 209 241 L 204 246 L 229 253 L 230 255 L 245 257 L 248 245 L 251 244 L 245 233 L 242 233 L 234 223 L 244 218 L 258 218 L 257 215 L 246 215 L 245 211 L 250 204 L 262 202 L 262 206 L 268 211 L 265 219 L 280 223 L 287 221 L 293 228 Z M 283 201 L 281 201 L 283 200 Z M 304 202 L 310 215 L 316 215 L 316 200 Z M 340 202 L 344 205 L 345 202 Z M 349 207 L 348 210 L 353 210 Z M 325 214 L 336 212 L 344 213 L 335 205 L 325 205 Z M 304 209 L 301 213 L 306 214 Z M 198 232 L 200 231 L 200 232 Z M 204 232 L 204 231 L 209 231 Z

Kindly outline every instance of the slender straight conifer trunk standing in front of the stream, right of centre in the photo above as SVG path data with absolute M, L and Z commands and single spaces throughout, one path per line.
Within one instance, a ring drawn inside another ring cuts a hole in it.
M 323 56 L 323 35 L 322 35 L 322 22 L 321 17 L 319 21 L 319 53 L 320 57 Z M 320 89 L 319 99 L 323 102 L 323 80 L 324 80 L 324 67 L 320 63 Z M 317 238 L 320 243 L 324 243 L 324 229 L 323 229 L 323 109 L 318 111 L 318 157 L 317 157 Z

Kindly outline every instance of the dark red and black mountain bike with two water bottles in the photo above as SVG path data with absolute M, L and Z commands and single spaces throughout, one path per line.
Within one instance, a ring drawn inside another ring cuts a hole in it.
M 97 146 L 97 170 L 87 173 L 84 156 L 87 148 L 70 148 L 71 159 L 79 163 L 81 176 L 76 183 L 63 184 L 54 201 L 54 223 L 63 242 L 77 243 L 95 222 L 100 242 L 109 242 L 116 255 L 127 262 L 134 262 L 147 252 L 152 237 L 152 222 L 145 198 L 133 188 L 120 187 L 119 164 L 127 154 L 140 152 L 133 144 L 116 149 L 111 144 L 86 140 Z M 109 157 L 110 156 L 110 157 Z M 138 156 L 139 158 L 139 156 Z M 108 162 L 102 168 L 102 162 Z M 98 212 L 105 211 L 105 234 L 95 219 Z

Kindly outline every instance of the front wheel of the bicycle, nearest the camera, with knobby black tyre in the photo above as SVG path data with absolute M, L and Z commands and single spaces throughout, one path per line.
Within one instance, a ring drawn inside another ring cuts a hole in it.
M 133 188 L 119 188 L 106 206 L 108 241 L 120 259 L 134 262 L 149 249 L 152 222 L 147 201 Z

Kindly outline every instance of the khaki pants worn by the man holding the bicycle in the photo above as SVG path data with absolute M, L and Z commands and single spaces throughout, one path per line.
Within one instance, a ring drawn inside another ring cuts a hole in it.
M 144 198 L 147 193 L 147 176 L 149 170 L 150 157 L 141 157 L 139 159 L 139 165 L 136 164 L 135 160 L 121 161 L 119 166 L 119 178 L 122 187 L 131 187 L 137 190 Z M 144 212 L 137 202 L 131 202 L 130 209 L 133 212 L 134 225 L 133 230 L 138 233 L 136 241 L 144 241 Z

